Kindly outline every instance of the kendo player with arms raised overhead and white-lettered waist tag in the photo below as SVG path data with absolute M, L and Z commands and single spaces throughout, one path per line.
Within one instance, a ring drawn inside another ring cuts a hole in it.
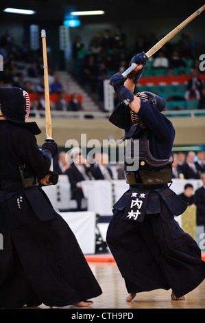
M 147 58 L 138 54 L 132 63 L 138 66 L 127 79 L 119 73 L 110 79 L 121 103 L 109 120 L 125 129 L 121 140 L 130 143 L 125 153 L 130 186 L 113 207 L 106 240 L 125 280 L 127 301 L 154 289 L 172 289 L 171 300 L 183 300 L 204 280 L 205 262 L 197 243 L 174 219 L 187 203 L 169 188 L 175 130 L 161 113 L 166 102 L 154 93 L 136 93 Z

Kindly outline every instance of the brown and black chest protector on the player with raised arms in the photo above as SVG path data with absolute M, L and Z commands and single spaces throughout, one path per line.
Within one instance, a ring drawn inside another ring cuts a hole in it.
M 149 140 L 143 137 L 139 140 L 138 154 L 134 153 L 134 141 L 131 139 L 128 155 L 138 162 L 137 170 L 128 170 L 130 164 L 125 159 L 125 179 L 130 186 L 158 186 L 171 182 L 172 161 L 156 159 L 149 151 Z M 137 155 L 135 157 L 135 155 Z M 137 159 L 137 160 L 136 160 Z

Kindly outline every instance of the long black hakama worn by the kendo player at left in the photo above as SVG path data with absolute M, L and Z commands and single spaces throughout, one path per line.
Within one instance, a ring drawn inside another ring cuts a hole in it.
M 51 220 L 40 221 L 24 192 L 13 194 L 0 209 L 0 307 L 63 307 L 101 294 L 62 216 L 53 211 Z

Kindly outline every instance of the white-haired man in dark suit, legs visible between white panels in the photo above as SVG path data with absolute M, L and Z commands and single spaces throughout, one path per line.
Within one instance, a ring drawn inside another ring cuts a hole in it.
M 69 182 L 71 183 L 72 199 L 77 201 L 77 210 L 81 210 L 81 202 L 84 198 L 82 181 L 95 180 L 95 175 L 90 164 L 82 155 L 80 148 L 72 148 L 70 152 L 71 167 L 67 170 Z

